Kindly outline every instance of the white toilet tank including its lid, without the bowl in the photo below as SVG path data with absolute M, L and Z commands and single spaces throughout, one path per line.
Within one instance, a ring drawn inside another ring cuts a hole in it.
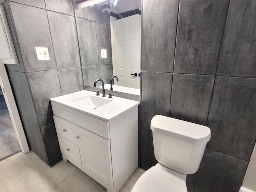
M 150 128 L 160 164 L 182 174 L 198 170 L 211 137 L 210 128 L 161 115 L 152 118 Z

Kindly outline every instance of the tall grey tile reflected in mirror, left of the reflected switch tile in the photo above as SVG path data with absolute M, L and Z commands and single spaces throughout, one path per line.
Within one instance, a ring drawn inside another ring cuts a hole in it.
M 80 57 L 83 67 L 99 64 L 95 22 L 76 18 Z

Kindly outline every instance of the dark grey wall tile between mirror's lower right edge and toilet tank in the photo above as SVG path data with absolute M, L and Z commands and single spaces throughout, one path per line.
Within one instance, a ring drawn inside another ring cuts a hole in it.
M 172 73 L 142 72 L 141 125 L 150 128 L 155 115 L 169 116 Z

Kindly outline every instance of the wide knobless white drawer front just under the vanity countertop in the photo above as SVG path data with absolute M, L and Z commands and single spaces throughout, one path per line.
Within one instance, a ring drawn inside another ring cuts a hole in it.
M 82 128 L 96 133 L 106 139 L 110 139 L 109 123 L 93 116 L 78 112 L 68 107 L 51 102 L 53 114 L 68 120 Z

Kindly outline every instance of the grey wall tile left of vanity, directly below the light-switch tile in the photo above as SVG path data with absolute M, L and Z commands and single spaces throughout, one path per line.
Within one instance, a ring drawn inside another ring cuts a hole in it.
M 53 122 L 50 98 L 61 96 L 57 70 L 27 73 L 39 125 Z

